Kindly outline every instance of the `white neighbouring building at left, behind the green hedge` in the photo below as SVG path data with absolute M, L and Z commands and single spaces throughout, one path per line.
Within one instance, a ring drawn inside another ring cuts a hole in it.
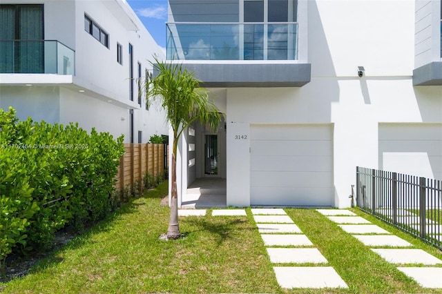
M 124 0 L 1 0 L 0 108 L 126 143 L 167 134 L 137 79 L 164 56 Z

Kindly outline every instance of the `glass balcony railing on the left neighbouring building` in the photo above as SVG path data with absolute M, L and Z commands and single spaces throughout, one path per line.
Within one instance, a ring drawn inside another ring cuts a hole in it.
M 0 73 L 74 75 L 75 52 L 59 41 L 0 40 Z

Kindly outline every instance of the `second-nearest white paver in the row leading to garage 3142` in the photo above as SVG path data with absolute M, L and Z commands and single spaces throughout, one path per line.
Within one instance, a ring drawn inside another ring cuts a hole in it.
M 267 254 L 273 264 L 327 263 L 317 248 L 267 248 Z

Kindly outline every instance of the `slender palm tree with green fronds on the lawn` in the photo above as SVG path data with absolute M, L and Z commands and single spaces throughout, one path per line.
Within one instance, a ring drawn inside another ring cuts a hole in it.
M 215 130 L 221 115 L 215 104 L 209 101 L 207 91 L 200 88 L 200 81 L 193 76 L 193 72 L 183 68 L 181 63 L 161 63 L 155 57 L 155 63 L 151 64 L 157 75 L 146 79 L 146 100 L 147 103 L 155 99 L 160 101 L 161 107 L 166 110 L 166 120 L 173 130 L 171 216 L 166 235 L 168 239 L 177 239 L 181 237 L 176 174 L 178 140 L 183 131 L 195 121 Z

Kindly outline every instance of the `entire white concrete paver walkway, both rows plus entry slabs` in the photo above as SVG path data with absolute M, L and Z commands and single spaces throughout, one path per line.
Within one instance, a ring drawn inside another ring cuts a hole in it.
M 442 288 L 442 260 L 345 209 L 317 209 L 343 231 L 396 264 L 398 271 L 425 288 Z M 327 259 L 282 208 L 252 208 L 262 241 L 282 288 L 348 288 Z M 179 210 L 180 216 L 204 216 L 205 209 Z M 244 209 L 213 209 L 213 216 L 246 216 Z M 314 264 L 315 266 L 304 266 Z M 422 266 L 424 265 L 424 266 Z

